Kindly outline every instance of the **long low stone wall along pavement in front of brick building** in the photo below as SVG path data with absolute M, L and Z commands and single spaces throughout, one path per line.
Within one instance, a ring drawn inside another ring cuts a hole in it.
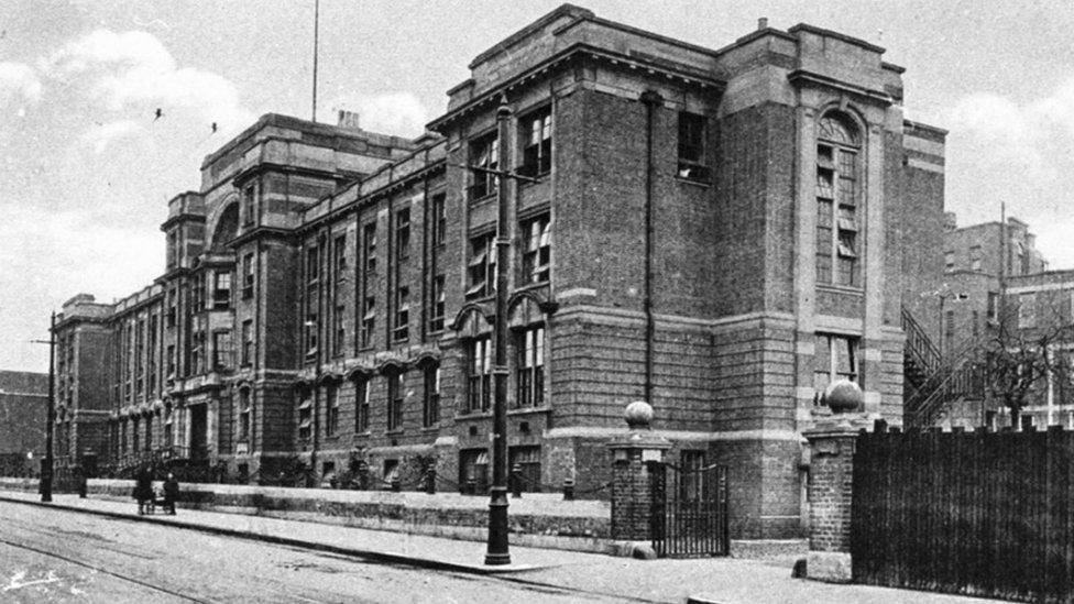
M 156 483 L 160 488 L 160 483 Z M 90 497 L 131 499 L 134 481 L 88 481 Z M 37 481 L 0 479 L 0 490 L 36 492 Z M 617 553 L 611 540 L 611 504 L 565 502 L 561 495 L 526 493 L 511 498 L 511 541 L 517 546 Z M 377 530 L 483 541 L 489 498 L 456 493 L 333 491 L 231 484 L 182 484 L 179 507 L 335 524 Z

